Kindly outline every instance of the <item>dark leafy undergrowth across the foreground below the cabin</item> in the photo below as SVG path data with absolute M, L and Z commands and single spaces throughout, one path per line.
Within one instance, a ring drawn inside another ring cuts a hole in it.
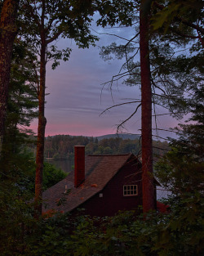
M 183 205 L 186 213 L 180 214 L 177 204 L 168 215 L 149 213 L 145 219 L 135 211 L 106 218 L 56 214 L 41 221 L 38 237 L 27 245 L 27 254 L 202 255 L 202 205 L 197 203 L 197 209 L 188 208 L 188 212 Z

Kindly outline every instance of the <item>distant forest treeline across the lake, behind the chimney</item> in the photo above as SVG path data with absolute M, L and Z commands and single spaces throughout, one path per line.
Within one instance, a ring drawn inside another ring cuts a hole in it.
M 133 153 L 140 155 L 140 139 L 122 139 L 111 137 L 98 140 L 97 137 L 73 137 L 69 135 L 55 135 L 47 137 L 45 141 L 45 157 L 54 159 L 73 159 L 74 146 L 85 146 L 86 155 L 115 155 Z M 153 141 L 154 156 L 164 155 L 168 150 L 166 141 Z

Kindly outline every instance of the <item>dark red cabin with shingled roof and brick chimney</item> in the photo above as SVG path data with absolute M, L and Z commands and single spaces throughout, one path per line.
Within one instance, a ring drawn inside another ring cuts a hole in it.
M 83 214 L 103 217 L 142 205 L 141 163 L 135 155 L 85 156 L 85 146 L 74 150 L 74 172 L 43 192 L 44 212 L 84 209 Z

